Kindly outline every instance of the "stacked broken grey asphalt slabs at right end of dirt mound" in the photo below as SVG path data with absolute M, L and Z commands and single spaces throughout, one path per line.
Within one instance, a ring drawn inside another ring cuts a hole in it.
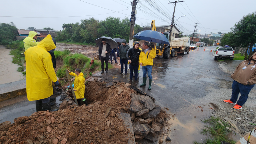
M 129 112 L 136 141 L 143 138 L 157 141 L 157 135 L 163 132 L 162 128 L 169 126 L 165 121 L 169 116 L 149 96 L 131 93 Z

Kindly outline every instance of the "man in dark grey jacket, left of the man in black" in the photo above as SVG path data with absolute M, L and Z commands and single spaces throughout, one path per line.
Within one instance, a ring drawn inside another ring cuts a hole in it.
M 126 40 L 124 39 L 121 46 L 119 47 L 119 57 L 120 57 L 120 64 L 121 64 L 121 72 L 119 74 L 124 73 L 124 63 L 125 63 L 125 75 L 127 75 L 128 59 L 126 58 L 126 53 L 129 48 L 130 46 L 126 44 Z

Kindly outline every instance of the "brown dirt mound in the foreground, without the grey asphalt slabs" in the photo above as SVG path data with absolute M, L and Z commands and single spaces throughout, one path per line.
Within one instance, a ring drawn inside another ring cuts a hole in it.
M 70 105 L 66 109 L 55 112 L 40 111 L 33 113 L 30 117 L 16 118 L 13 124 L 10 122 L 2 124 L 0 144 L 128 143 L 130 130 L 118 115 L 121 107 L 129 109 L 130 94 L 134 91 L 123 83 L 114 84 L 108 89 L 104 88 L 105 82 L 93 81 L 88 85 L 92 85 L 92 88 L 86 93 L 95 96 L 98 94 L 96 91 L 99 91 L 99 87 L 103 87 L 100 93 L 105 91 L 105 94 L 100 97 L 105 98 L 92 96 L 86 98 L 93 101 L 88 106 Z M 116 86 L 123 89 L 121 94 L 118 94 L 119 88 Z M 67 103 L 67 101 L 64 102 Z

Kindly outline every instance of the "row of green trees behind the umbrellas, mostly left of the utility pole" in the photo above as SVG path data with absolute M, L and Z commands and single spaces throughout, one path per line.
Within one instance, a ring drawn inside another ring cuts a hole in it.
M 93 17 L 82 19 L 77 23 L 63 24 L 63 31 L 58 32 L 57 41 L 66 43 L 94 43 L 94 40 L 107 36 L 111 38 L 123 38 L 129 41 L 130 22 L 128 17 L 120 20 L 119 17 L 107 17 L 104 21 L 99 21 Z M 142 27 L 135 25 L 135 34 L 142 31 Z

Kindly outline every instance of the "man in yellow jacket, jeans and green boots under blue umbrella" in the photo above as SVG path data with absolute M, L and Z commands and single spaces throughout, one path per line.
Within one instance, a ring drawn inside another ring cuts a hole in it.
M 145 41 L 142 43 L 143 50 L 140 52 L 140 58 L 139 62 L 142 66 L 142 72 L 143 72 L 143 83 L 140 86 L 145 86 L 147 82 L 147 72 L 149 76 L 149 90 L 151 89 L 151 83 L 152 83 L 152 65 L 153 65 L 153 58 L 155 58 L 156 52 L 155 49 L 151 48 L 149 46 L 149 43 Z

